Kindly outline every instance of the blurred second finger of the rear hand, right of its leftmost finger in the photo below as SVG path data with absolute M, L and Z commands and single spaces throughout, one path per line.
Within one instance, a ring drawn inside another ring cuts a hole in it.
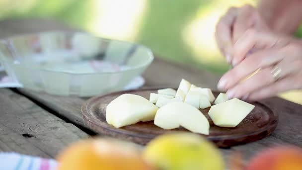
M 235 43 L 239 37 L 255 23 L 255 13 L 257 10 L 251 5 L 244 5 L 238 10 L 237 18 L 233 26 L 233 43 Z

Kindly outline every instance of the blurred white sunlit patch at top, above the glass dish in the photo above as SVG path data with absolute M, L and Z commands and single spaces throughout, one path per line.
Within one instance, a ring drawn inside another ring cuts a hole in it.
M 134 40 L 146 0 L 95 0 L 89 31 L 102 37 Z

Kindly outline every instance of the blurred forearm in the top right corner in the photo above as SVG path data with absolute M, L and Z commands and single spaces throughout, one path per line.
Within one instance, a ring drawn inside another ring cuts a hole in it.
M 291 34 L 302 23 L 302 0 L 260 0 L 258 10 L 275 32 Z

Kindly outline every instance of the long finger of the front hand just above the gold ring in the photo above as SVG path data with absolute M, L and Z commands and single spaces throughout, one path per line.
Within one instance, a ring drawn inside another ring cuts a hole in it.
M 226 91 L 259 68 L 264 69 L 279 63 L 284 56 L 281 50 L 262 50 L 255 52 L 236 65 L 232 70 L 228 71 L 219 81 L 218 88 Z

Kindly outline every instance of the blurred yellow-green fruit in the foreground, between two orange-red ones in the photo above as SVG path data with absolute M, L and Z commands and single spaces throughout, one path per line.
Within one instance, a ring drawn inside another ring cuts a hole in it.
M 144 159 L 158 170 L 224 170 L 218 149 L 193 133 L 175 133 L 152 140 Z

